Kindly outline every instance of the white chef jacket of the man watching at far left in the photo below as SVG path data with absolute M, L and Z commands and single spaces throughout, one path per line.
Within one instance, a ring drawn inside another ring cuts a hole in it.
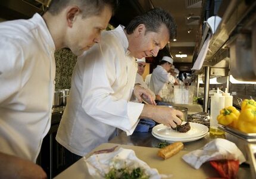
M 36 161 L 51 125 L 55 45 L 39 14 L 0 23 L 0 151 Z

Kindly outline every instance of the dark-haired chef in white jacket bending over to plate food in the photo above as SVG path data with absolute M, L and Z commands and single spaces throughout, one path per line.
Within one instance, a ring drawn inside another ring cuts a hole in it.
M 77 59 L 56 140 L 81 157 L 112 139 L 116 128 L 131 135 L 139 118 L 151 118 L 168 127 L 181 124 L 182 112 L 156 106 L 148 90 L 135 85 L 135 58 L 157 56 L 175 32 L 173 17 L 154 8 L 127 27 L 102 33 L 101 43 Z M 132 95 L 139 102 L 146 95 L 154 105 L 131 102 Z

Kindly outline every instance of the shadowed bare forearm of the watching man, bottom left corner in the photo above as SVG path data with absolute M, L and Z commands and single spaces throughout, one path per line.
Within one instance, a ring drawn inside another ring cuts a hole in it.
M 33 162 L 0 152 L 0 178 L 45 179 L 45 171 Z

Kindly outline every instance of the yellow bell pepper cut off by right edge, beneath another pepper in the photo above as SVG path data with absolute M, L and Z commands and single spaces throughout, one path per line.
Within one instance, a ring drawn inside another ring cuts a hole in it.
M 238 129 L 244 133 L 256 133 L 256 109 L 247 108 L 241 111 Z

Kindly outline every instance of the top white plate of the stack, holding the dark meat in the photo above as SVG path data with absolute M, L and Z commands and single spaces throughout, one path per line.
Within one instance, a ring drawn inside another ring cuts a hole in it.
M 186 122 L 182 122 L 182 124 L 185 124 Z M 152 132 L 158 137 L 164 138 L 164 139 L 193 139 L 195 137 L 202 136 L 208 132 L 208 127 L 203 124 L 198 123 L 191 123 L 191 130 L 189 130 L 186 133 L 180 133 L 179 131 L 173 130 L 171 128 L 168 128 L 164 124 L 158 124 L 155 125 L 155 127 L 152 128 Z

